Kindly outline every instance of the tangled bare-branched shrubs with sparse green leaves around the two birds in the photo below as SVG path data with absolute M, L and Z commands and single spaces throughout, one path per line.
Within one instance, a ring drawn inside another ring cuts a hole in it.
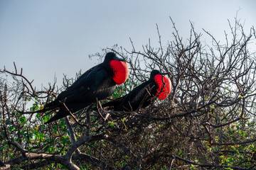
M 173 23 L 173 21 L 171 21 Z M 129 79 L 110 97 L 119 98 L 145 81 L 152 69 L 171 72 L 164 101 L 132 113 L 85 108 L 45 125 L 54 113 L 43 105 L 72 84 L 36 91 L 18 72 L 1 70 L 0 166 L 2 169 L 256 169 L 255 30 L 245 34 L 235 20 L 221 44 L 212 45 L 191 25 L 183 40 L 159 47 L 113 51 L 130 64 Z M 102 55 L 96 54 L 100 57 Z M 78 74 L 79 76 L 79 74 Z M 105 101 L 103 101 L 105 102 Z

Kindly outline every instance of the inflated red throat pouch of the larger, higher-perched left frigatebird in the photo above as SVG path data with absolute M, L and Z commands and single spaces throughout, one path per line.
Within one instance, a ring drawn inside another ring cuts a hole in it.
M 117 85 L 123 84 L 127 80 L 128 74 L 129 74 L 129 67 L 128 67 L 127 62 L 111 60 L 110 67 L 113 71 L 112 78 L 113 78 L 114 82 Z

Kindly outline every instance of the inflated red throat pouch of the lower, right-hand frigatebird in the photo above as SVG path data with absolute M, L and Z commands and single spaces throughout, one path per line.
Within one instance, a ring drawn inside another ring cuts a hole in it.
M 171 93 L 171 80 L 168 77 L 156 74 L 154 81 L 157 84 L 156 96 L 159 95 L 160 100 L 164 100 Z M 160 93 L 160 94 L 159 94 Z

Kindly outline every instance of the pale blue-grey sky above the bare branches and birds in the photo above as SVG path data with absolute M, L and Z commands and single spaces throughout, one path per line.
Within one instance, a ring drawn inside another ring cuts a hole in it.
M 137 49 L 149 38 L 157 45 L 156 24 L 163 43 L 172 40 L 169 17 L 183 38 L 191 21 L 198 33 L 204 28 L 222 40 L 237 12 L 245 32 L 256 28 L 255 8 L 255 0 L 0 0 L 0 69 L 14 71 L 16 62 L 37 89 L 54 77 L 61 84 L 63 74 L 75 77 L 98 64 L 88 56 L 102 48 L 131 50 L 129 38 Z

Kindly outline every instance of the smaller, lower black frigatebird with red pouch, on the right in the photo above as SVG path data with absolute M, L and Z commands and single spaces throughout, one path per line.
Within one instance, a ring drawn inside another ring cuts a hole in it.
M 149 80 L 135 87 L 129 94 L 102 106 L 110 106 L 114 111 L 136 111 L 138 108 L 149 106 L 154 98 L 164 100 L 171 93 L 171 80 L 164 74 L 169 73 L 161 73 L 154 69 Z

